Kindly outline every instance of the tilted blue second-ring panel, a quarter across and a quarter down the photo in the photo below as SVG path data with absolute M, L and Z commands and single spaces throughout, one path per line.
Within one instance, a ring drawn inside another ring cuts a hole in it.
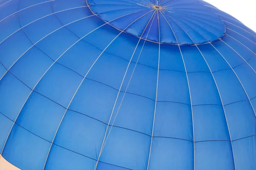
M 49 57 L 56 60 L 68 48 L 74 45 L 77 40 L 79 40 L 79 38 L 73 33 L 66 28 L 61 28 L 58 31 L 55 31 L 54 34 L 50 34 L 38 42 L 36 46 L 44 51 Z

